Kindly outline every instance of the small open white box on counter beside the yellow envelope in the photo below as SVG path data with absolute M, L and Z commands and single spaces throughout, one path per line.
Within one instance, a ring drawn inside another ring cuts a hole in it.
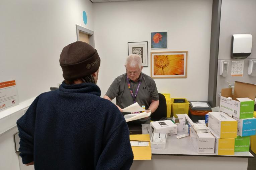
M 165 149 L 166 139 L 166 133 L 153 133 L 150 139 L 151 148 Z

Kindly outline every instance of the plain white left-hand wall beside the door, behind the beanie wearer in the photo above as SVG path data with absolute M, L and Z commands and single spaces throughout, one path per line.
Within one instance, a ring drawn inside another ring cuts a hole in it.
M 92 18 L 89 0 L 1 0 L 0 82 L 15 79 L 20 102 L 56 87 L 63 47 L 76 41 L 76 24 L 93 30 Z

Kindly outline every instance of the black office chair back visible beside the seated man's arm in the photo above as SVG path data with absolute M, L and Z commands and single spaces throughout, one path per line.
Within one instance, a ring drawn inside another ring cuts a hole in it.
M 157 110 L 150 116 L 152 121 L 167 120 L 167 117 L 166 117 L 167 106 L 166 106 L 165 97 L 161 93 L 158 93 L 158 95 L 159 95 L 159 106 Z

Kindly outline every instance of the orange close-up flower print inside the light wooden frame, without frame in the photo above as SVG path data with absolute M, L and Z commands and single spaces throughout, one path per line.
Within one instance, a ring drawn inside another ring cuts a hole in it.
M 184 54 L 154 55 L 154 75 L 183 75 Z

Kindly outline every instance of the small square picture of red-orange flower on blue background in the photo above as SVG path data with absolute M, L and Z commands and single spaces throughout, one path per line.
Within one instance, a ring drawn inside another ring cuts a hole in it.
M 167 32 L 151 32 L 151 49 L 167 48 Z

